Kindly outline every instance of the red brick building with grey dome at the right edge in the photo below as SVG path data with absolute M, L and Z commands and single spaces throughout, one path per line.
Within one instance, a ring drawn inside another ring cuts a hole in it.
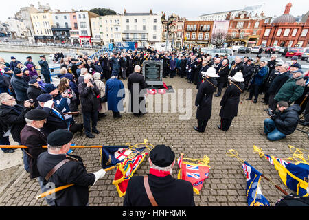
M 261 39 L 258 45 L 280 47 L 308 47 L 309 18 L 308 13 L 302 19 L 304 22 L 296 22 L 290 14 L 291 3 L 286 5 L 284 14 L 272 22 L 262 25 Z

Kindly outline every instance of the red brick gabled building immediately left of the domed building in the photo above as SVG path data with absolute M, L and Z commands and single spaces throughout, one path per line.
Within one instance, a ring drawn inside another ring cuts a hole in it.
M 229 15 L 227 19 L 229 19 Z M 263 12 L 260 15 L 255 14 L 255 16 L 250 16 L 246 11 L 239 12 L 234 19 L 229 21 L 227 46 L 254 47 L 258 45 L 264 19 Z

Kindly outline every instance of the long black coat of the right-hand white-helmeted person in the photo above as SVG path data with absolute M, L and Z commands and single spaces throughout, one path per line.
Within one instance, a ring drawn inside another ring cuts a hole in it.
M 222 107 L 219 115 L 221 118 L 232 120 L 237 116 L 238 104 L 242 91 L 244 91 L 244 83 L 231 83 L 231 85 L 227 87 L 225 94 L 222 96 L 222 100 L 220 102 L 220 106 Z

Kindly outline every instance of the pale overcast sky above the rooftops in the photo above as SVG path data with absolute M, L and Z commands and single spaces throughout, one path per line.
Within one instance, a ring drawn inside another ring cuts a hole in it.
M 122 13 L 124 8 L 126 8 L 126 11 L 129 13 L 149 12 L 151 8 L 152 12 L 157 14 L 161 14 L 162 11 L 166 12 L 167 15 L 174 12 L 190 20 L 196 19 L 201 14 L 237 10 L 244 8 L 244 6 L 260 5 L 262 3 L 265 3 L 264 13 L 266 16 L 279 16 L 283 14 L 284 7 L 289 2 L 289 0 L 4 0 L 1 4 L 0 21 L 4 22 L 7 21 L 8 17 L 14 17 L 19 8 L 28 6 L 30 3 L 38 8 L 38 1 L 40 1 L 41 5 L 49 3 L 52 10 L 71 11 L 71 9 L 111 8 L 117 13 Z M 290 14 L 293 16 L 306 14 L 309 10 L 308 0 L 291 0 L 291 3 L 293 6 Z

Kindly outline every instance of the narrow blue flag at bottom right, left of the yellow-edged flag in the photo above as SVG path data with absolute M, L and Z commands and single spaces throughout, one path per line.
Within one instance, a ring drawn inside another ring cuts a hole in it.
M 244 170 L 244 176 L 247 178 L 246 196 L 248 206 L 269 206 L 269 202 L 262 195 L 260 188 L 262 173 L 246 161 L 242 164 L 242 170 Z

